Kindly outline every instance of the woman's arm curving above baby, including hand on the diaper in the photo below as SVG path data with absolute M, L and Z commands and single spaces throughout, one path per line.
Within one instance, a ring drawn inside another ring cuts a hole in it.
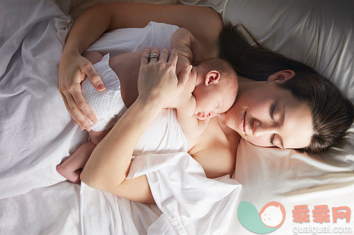
M 210 8 L 181 5 L 152 5 L 143 3 L 106 3 L 88 8 L 75 21 L 65 44 L 59 66 L 59 92 L 65 107 L 81 130 L 90 130 L 88 116 L 97 119 L 81 93 L 80 83 L 86 76 L 97 90 L 104 87 L 92 64 L 81 53 L 102 33 L 116 28 L 144 27 L 149 21 L 175 24 L 194 35 L 201 58 L 218 56 L 218 34 L 222 21 Z

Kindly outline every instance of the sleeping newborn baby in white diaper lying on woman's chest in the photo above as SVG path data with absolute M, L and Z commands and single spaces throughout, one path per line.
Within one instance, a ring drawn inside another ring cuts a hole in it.
M 195 38 L 184 28 L 172 36 L 172 48 L 179 53 L 176 73 L 190 65 L 193 67 L 184 87 L 184 92 L 173 105 L 177 119 L 186 136 L 188 150 L 195 139 L 207 128 L 209 120 L 230 109 L 236 100 L 238 81 L 231 65 L 219 58 L 198 60 Z M 57 166 L 57 171 L 71 182 L 80 183 L 80 173 L 93 149 L 108 133 L 138 97 L 138 71 L 143 52 L 126 53 L 109 59 L 109 55 L 97 52 L 86 54 L 86 58 L 102 78 L 106 90 L 98 92 L 86 79 L 81 83 L 83 96 L 97 116 L 89 134 L 91 140 L 83 143 L 70 157 Z

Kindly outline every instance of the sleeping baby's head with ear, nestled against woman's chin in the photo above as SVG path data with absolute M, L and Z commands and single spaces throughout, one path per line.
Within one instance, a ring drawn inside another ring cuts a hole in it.
M 220 58 L 207 58 L 193 62 L 197 81 L 193 96 L 195 116 L 204 120 L 230 109 L 236 100 L 239 82 L 232 66 Z

